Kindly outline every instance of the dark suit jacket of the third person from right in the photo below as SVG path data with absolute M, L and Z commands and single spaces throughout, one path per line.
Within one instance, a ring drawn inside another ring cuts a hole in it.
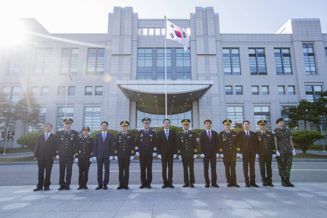
M 249 131 L 250 139 L 247 138 L 244 130 L 237 134 L 240 142 L 240 149 L 243 156 L 255 156 L 258 154 L 257 136 L 254 132 Z

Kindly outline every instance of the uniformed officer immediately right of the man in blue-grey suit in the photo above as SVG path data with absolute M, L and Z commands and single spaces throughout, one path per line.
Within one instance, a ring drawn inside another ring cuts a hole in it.
M 121 133 L 116 136 L 116 143 L 114 146 L 114 157 L 118 160 L 119 167 L 119 186 L 117 189 L 128 189 L 129 180 L 129 164 L 135 155 L 135 141 L 134 135 L 128 133 L 129 122 L 124 120 L 121 122 Z M 124 176 L 125 171 L 125 176 Z

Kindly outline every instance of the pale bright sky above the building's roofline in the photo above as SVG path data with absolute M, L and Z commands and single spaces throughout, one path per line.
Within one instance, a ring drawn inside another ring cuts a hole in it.
M 139 19 L 188 19 L 195 7 L 219 13 L 221 33 L 276 33 L 291 18 L 320 18 L 327 0 L 1 0 L 0 22 L 35 18 L 50 33 L 106 33 L 108 13 L 132 6 Z

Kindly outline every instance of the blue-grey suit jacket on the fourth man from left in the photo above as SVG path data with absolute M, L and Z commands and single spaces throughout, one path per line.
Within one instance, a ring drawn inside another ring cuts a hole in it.
M 114 135 L 107 132 L 104 142 L 102 139 L 102 131 L 95 135 L 93 157 L 97 159 L 109 159 L 114 157 Z

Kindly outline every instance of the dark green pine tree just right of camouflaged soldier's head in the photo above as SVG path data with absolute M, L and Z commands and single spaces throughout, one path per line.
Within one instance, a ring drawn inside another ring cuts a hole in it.
M 318 124 L 321 119 L 317 104 L 315 102 L 307 101 L 306 99 L 301 99 L 296 107 L 290 107 L 289 112 L 288 127 L 290 129 L 298 127 L 298 122 L 303 120 L 305 130 L 307 130 L 307 122 Z

